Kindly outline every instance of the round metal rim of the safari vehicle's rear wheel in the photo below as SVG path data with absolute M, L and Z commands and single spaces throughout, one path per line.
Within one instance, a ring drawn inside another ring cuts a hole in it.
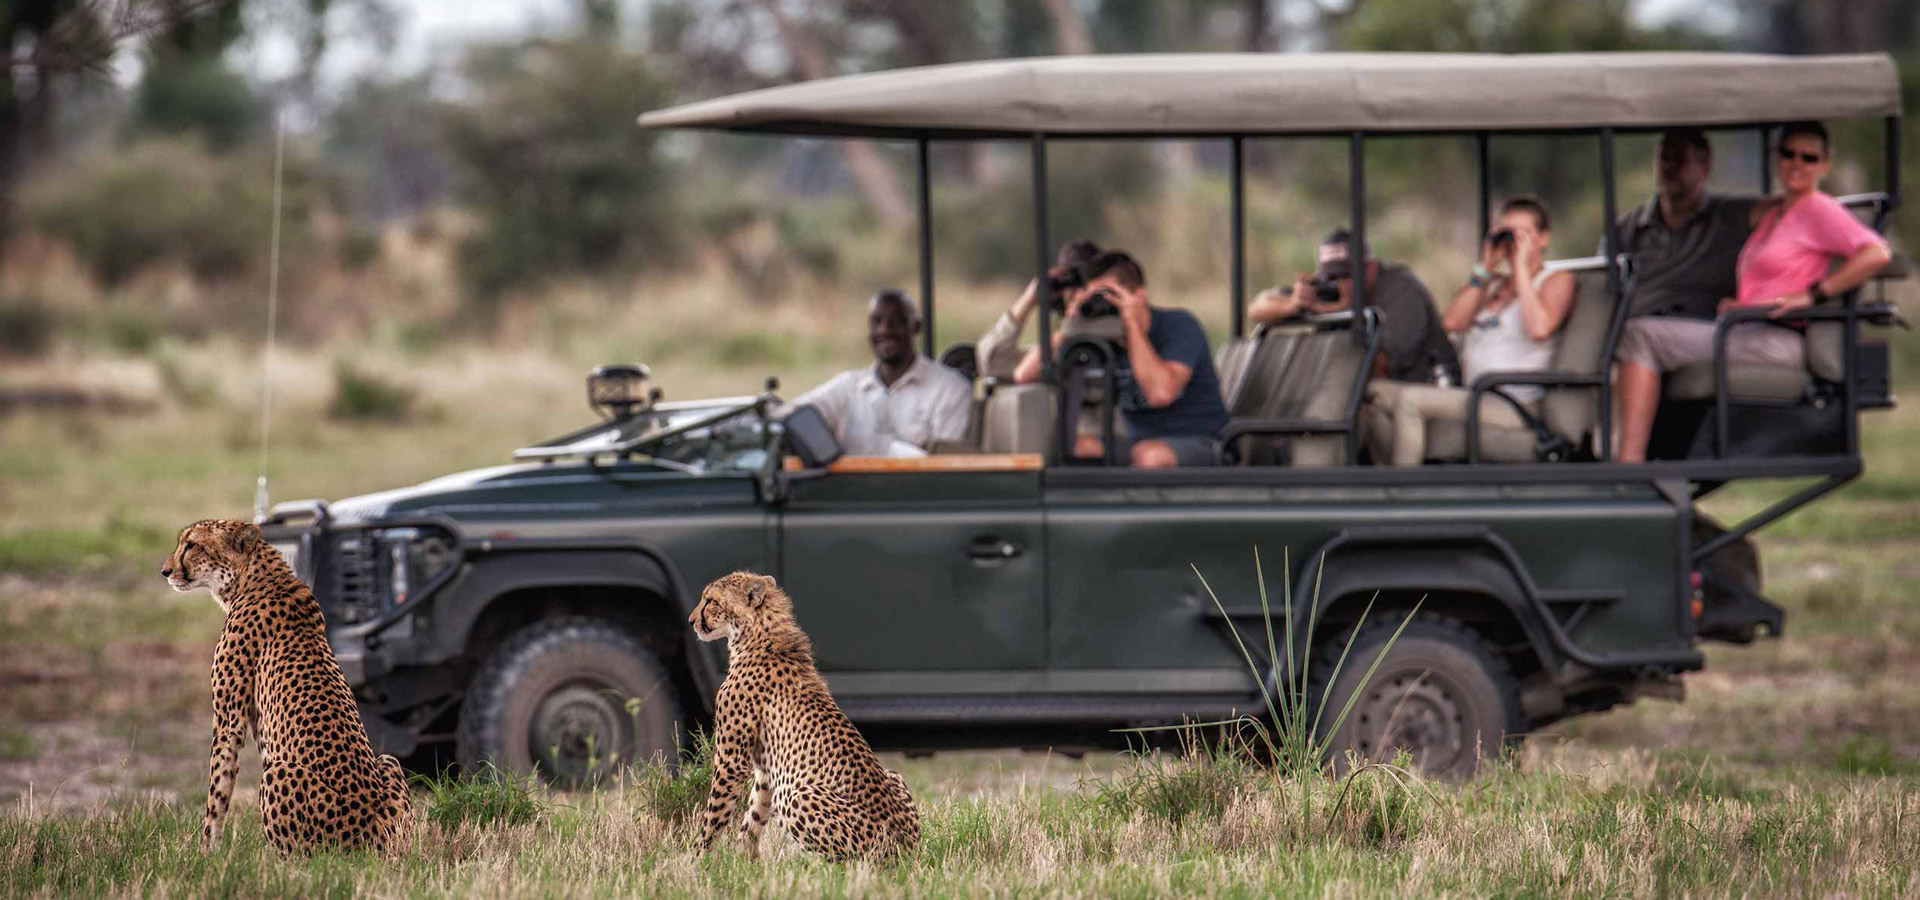
M 1405 750 L 1421 771 L 1459 768 L 1475 750 L 1459 687 L 1425 668 L 1377 675 L 1354 706 L 1354 748 L 1373 762 Z

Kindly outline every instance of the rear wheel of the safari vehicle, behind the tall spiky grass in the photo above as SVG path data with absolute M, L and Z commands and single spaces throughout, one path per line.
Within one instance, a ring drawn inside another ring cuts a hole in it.
M 1332 693 L 1319 712 L 1317 731 L 1331 741 L 1336 770 L 1348 768 L 1348 750 L 1367 762 L 1392 762 L 1405 750 L 1425 775 L 1467 779 L 1524 735 L 1519 681 L 1461 622 L 1421 612 L 1388 647 L 1400 622 L 1388 616 L 1361 626 L 1344 664 L 1344 635 L 1321 647 L 1308 697 L 1319 700 L 1327 677 L 1332 677 Z M 1386 656 L 1361 689 L 1361 677 L 1382 651 Z M 1359 700 L 1336 723 L 1356 691 Z

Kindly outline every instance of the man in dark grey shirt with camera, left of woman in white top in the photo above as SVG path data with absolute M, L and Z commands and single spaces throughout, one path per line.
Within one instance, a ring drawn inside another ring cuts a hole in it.
M 1302 274 L 1288 290 L 1267 288 L 1254 297 L 1246 315 L 1256 322 L 1279 322 L 1302 313 L 1336 313 L 1354 305 L 1354 267 L 1348 265 L 1348 230 L 1334 228 L 1319 244 L 1313 274 Z M 1321 301 L 1315 282 L 1338 286 L 1334 301 Z M 1380 263 L 1367 249 L 1367 305 L 1380 313 L 1380 355 L 1373 376 L 1396 382 L 1459 384 L 1459 359 L 1440 328 L 1434 297 L 1402 265 Z

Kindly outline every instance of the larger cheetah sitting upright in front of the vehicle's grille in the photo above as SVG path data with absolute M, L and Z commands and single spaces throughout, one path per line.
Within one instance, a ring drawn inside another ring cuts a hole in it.
M 194 522 L 159 574 L 207 587 L 227 612 L 213 651 L 213 750 L 202 841 L 221 835 L 246 729 L 259 737 L 259 810 L 282 854 L 369 846 L 394 854 L 413 821 L 399 762 L 374 756 L 326 645 L 321 604 L 259 528 Z

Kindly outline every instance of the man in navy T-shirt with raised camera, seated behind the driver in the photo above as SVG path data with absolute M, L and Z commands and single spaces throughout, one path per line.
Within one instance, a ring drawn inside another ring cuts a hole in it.
M 1117 315 L 1121 324 L 1119 414 L 1127 461 L 1139 468 L 1210 466 L 1217 459 L 1227 405 L 1200 320 L 1185 309 L 1146 301 L 1146 272 L 1131 255 L 1100 253 L 1081 265 L 1085 288 L 1068 299 L 1068 319 Z M 1066 328 L 1062 328 L 1066 332 Z M 1060 334 L 1054 336 L 1058 351 Z M 1041 349 L 1033 347 L 1014 372 L 1016 382 L 1041 378 Z M 1104 447 L 1081 436 L 1077 455 Z

